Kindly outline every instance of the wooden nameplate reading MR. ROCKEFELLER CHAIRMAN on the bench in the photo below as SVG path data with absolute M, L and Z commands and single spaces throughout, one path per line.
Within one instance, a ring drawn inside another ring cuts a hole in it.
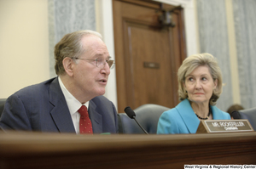
M 212 132 L 253 132 L 247 119 L 201 121 L 196 133 Z

